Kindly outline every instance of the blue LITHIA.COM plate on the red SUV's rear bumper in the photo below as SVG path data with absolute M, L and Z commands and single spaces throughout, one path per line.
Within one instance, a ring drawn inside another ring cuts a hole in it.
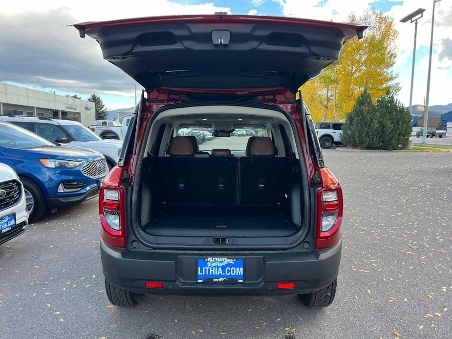
M 198 282 L 243 282 L 243 258 L 198 258 Z

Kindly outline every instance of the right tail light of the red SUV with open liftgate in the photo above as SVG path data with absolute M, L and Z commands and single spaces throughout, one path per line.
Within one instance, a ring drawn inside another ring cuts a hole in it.
M 322 188 L 317 191 L 316 248 L 336 245 L 341 240 L 340 227 L 343 213 L 342 188 L 328 169 L 320 169 Z

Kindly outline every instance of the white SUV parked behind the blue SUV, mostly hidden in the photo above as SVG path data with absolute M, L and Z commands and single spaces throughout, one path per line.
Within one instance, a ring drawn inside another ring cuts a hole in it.
M 54 120 L 46 117 L 6 115 L 0 116 L 0 120 L 28 129 L 59 144 L 94 149 L 105 156 L 108 170 L 118 164 L 122 140 L 104 140 L 79 122 Z

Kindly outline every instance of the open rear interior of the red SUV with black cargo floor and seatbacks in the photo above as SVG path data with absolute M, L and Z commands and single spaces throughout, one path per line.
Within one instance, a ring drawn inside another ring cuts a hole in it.
M 207 118 L 154 123 L 141 162 L 141 235 L 150 243 L 180 245 L 297 240 L 303 230 L 303 186 L 287 122 L 243 114 L 202 116 Z M 237 119 L 246 119 L 247 126 L 238 128 Z M 228 126 L 231 136 L 212 137 L 212 130 Z M 212 148 L 228 145 L 237 149 Z

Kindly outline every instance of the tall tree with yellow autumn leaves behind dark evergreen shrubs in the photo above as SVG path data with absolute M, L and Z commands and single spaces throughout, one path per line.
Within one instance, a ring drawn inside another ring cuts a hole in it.
M 388 90 L 391 93 L 400 90 L 397 74 L 391 71 L 397 56 L 395 42 L 398 36 L 393 21 L 373 10 L 367 10 L 358 18 L 350 15 L 347 21 L 366 23 L 369 27 L 364 38 L 348 40 L 336 63 L 301 86 L 303 99 L 314 121 L 344 120 L 364 88 L 375 101 Z

